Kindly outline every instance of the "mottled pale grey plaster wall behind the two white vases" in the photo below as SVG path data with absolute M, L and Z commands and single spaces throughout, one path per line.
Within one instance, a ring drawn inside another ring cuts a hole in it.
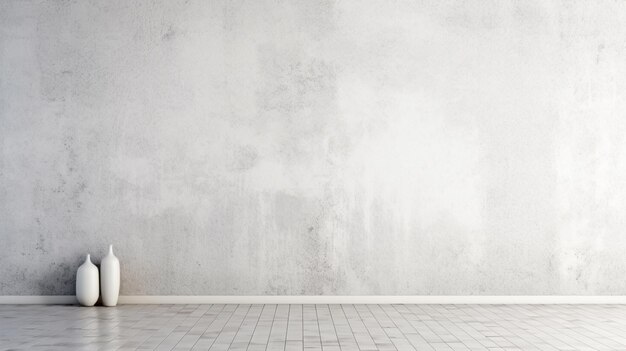
M 0 2 L 0 294 L 625 294 L 623 1 Z

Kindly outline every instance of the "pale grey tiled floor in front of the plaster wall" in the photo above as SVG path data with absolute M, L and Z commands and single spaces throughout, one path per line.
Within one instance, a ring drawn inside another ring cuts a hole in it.
M 626 350 L 626 306 L 3 305 L 0 349 Z

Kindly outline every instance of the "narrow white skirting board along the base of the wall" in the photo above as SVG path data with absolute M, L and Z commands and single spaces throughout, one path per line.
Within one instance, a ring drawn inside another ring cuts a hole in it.
M 626 304 L 626 296 L 120 296 L 120 304 Z M 75 296 L 0 296 L 0 304 L 72 305 Z

